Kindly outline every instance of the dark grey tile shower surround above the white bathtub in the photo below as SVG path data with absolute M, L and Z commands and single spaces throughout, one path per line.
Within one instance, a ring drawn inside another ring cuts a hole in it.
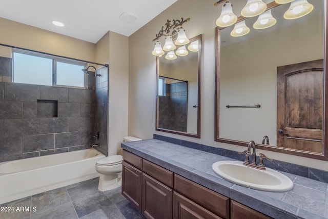
M 0 63 L 0 76 L 11 75 L 11 58 Z M 0 82 L 0 162 L 90 148 L 97 131 L 107 133 L 107 68 L 100 71 L 101 82 L 88 75 L 89 89 Z M 55 101 L 57 117 L 37 100 Z

